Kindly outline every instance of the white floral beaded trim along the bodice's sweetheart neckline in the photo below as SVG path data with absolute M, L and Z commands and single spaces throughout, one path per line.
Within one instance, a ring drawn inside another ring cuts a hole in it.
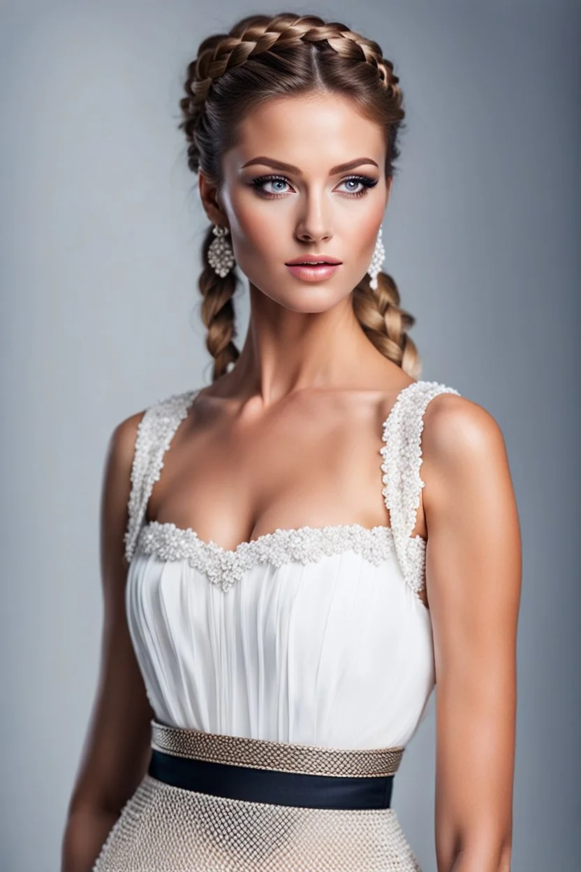
M 225 591 L 257 563 L 274 567 L 291 561 L 315 563 L 324 556 L 352 550 L 377 566 L 394 553 L 390 528 L 368 529 L 359 524 L 279 528 L 230 550 L 204 542 L 193 529 L 150 521 L 138 536 L 138 546 L 143 554 L 155 554 L 162 561 L 186 560 Z

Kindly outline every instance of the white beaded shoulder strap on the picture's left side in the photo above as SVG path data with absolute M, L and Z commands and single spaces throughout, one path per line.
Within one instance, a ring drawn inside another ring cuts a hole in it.
M 124 536 L 127 562 L 131 562 L 139 531 L 144 524 L 153 485 L 159 479 L 164 466 L 164 455 L 198 393 L 199 390 L 186 391 L 158 400 L 145 409 L 139 421 L 133 453 L 131 492 L 127 504 L 128 521 Z

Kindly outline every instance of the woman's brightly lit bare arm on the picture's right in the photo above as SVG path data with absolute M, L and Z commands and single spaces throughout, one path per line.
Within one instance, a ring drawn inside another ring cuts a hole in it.
M 422 434 L 438 872 L 509 872 L 521 535 L 503 434 L 454 394 Z

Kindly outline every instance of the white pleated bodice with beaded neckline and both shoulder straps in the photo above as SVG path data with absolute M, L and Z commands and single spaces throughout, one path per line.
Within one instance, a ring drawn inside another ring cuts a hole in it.
M 156 719 L 330 747 L 405 746 L 435 669 L 415 529 L 423 415 L 436 382 L 400 392 L 382 427 L 389 527 L 279 528 L 233 549 L 146 521 L 152 487 L 198 391 L 150 406 L 132 464 L 126 610 Z M 378 485 L 379 487 L 379 485 Z

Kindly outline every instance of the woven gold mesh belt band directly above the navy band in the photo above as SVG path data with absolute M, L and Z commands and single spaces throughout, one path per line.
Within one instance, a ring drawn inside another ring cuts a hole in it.
M 293 745 L 167 726 L 152 720 L 152 748 L 177 757 L 309 775 L 369 778 L 395 775 L 403 746 L 350 749 Z

